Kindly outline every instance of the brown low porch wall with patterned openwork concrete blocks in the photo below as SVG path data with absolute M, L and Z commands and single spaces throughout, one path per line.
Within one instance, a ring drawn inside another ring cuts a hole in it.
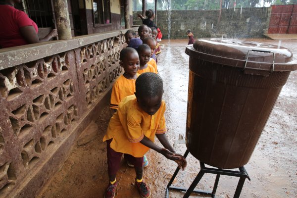
M 0 198 L 34 198 L 109 103 L 122 31 L 0 49 Z

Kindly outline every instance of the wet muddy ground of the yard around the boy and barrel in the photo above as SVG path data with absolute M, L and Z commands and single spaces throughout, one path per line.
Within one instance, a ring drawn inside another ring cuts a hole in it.
M 279 41 L 257 40 L 278 45 Z M 187 40 L 162 41 L 165 48 L 158 58 L 158 70 L 164 81 L 167 135 L 173 144 L 179 134 L 185 136 L 188 94 L 189 57 L 184 53 Z M 282 41 L 281 46 L 297 56 L 297 40 Z M 251 178 L 246 180 L 241 198 L 294 198 L 297 197 L 297 71 L 292 72 L 275 104 L 259 142 L 245 166 Z M 39 198 L 102 198 L 108 184 L 106 150 L 102 137 L 112 113 L 106 107 L 96 123 L 99 136 L 92 142 L 73 149 L 63 167 L 52 177 Z M 157 141 L 156 141 L 157 142 Z M 157 144 L 159 144 L 157 142 Z M 186 146 L 176 150 L 184 153 Z M 152 198 L 164 198 L 166 185 L 176 164 L 150 150 L 149 166 L 144 179 L 151 188 Z M 191 154 L 188 167 L 180 171 L 174 185 L 189 187 L 199 171 L 199 162 Z M 135 173 L 123 162 L 117 175 L 119 185 L 116 198 L 140 198 L 134 187 Z M 221 176 L 217 198 L 231 198 L 238 178 Z M 197 188 L 210 190 L 214 175 L 204 175 Z M 182 198 L 184 193 L 172 191 L 171 198 Z M 192 194 L 191 197 L 203 197 Z

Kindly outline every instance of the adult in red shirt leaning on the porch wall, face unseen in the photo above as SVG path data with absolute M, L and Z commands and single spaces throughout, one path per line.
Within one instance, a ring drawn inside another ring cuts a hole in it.
M 45 38 L 39 39 L 38 27 L 28 15 L 16 8 L 21 0 L 0 0 L 0 48 L 9 48 L 51 40 L 57 36 L 52 30 Z

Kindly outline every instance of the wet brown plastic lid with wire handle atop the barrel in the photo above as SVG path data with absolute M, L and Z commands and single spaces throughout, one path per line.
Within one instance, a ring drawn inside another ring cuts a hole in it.
M 289 49 L 252 41 L 203 38 L 188 45 L 186 53 L 194 58 L 245 70 L 297 70 L 297 59 Z

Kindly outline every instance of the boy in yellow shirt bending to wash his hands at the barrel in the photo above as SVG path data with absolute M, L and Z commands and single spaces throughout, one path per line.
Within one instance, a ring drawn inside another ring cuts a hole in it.
M 134 165 L 135 186 L 142 198 L 150 197 L 150 190 L 143 181 L 143 156 L 149 148 L 177 161 L 180 168 L 185 168 L 186 159 L 175 153 L 165 135 L 163 92 L 161 77 L 151 72 L 144 73 L 136 80 L 135 95 L 123 99 L 117 112 L 111 117 L 106 135 L 103 137 L 103 141 L 107 143 L 109 176 L 104 198 L 115 196 L 118 185 L 116 173 L 120 168 L 123 153 L 129 156 L 129 161 Z M 164 148 L 154 144 L 155 136 Z

